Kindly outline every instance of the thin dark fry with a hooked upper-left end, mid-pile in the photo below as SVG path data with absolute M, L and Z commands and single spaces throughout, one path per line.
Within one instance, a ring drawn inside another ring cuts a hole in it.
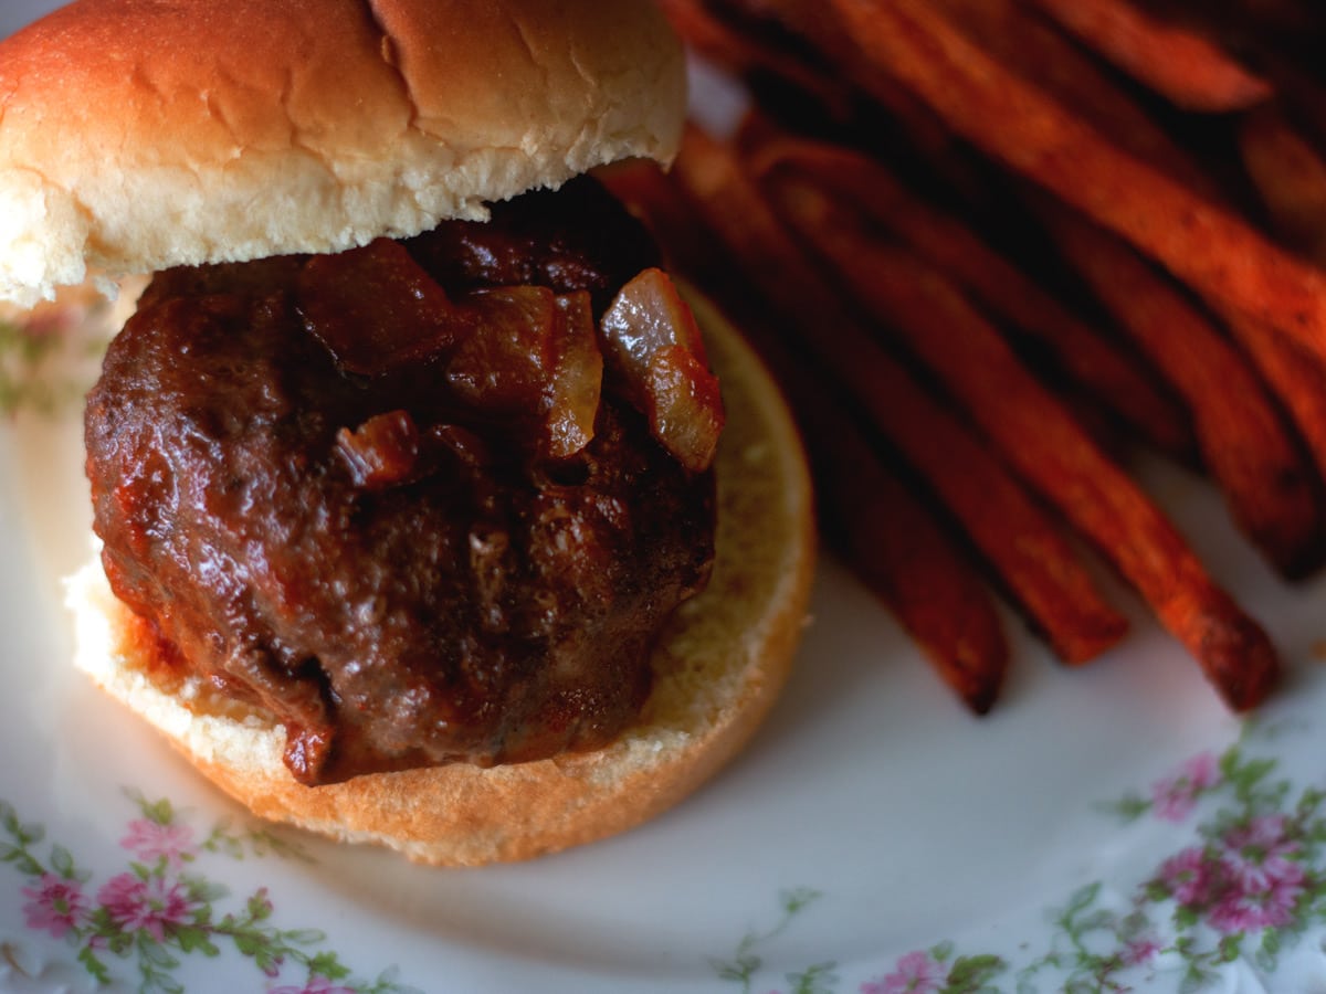
M 953 215 L 910 193 L 879 162 L 839 146 L 781 137 L 752 170 L 766 182 L 790 172 L 850 201 L 932 265 L 960 281 L 991 314 L 1034 339 L 1097 406 L 1158 449 L 1191 461 L 1196 441 L 1185 411 L 1110 339 L 994 252 Z

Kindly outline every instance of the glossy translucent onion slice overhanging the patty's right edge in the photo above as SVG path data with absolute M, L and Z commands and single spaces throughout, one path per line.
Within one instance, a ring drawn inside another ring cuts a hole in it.
M 599 323 L 610 367 L 654 437 L 692 472 L 707 469 L 723 431 L 723 398 L 695 317 L 660 269 L 635 276 Z

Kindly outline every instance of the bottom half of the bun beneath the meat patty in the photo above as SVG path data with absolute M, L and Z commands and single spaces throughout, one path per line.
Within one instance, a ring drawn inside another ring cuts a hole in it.
M 703 301 L 696 315 L 723 382 L 717 561 L 655 656 L 636 728 L 597 753 L 477 769 L 456 765 L 305 787 L 261 716 L 160 683 L 151 639 L 110 595 L 99 565 L 70 587 L 78 665 L 256 814 L 447 865 L 522 860 L 644 822 L 731 759 L 786 680 L 814 558 L 810 481 L 777 387 Z

